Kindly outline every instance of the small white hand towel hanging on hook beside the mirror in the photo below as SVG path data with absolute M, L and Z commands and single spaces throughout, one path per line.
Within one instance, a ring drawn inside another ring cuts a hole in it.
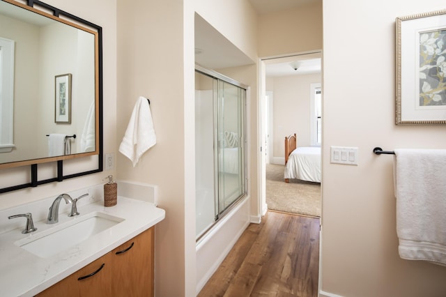
M 148 100 L 139 97 L 134 105 L 119 151 L 137 165 L 141 155 L 156 144 L 151 108 Z

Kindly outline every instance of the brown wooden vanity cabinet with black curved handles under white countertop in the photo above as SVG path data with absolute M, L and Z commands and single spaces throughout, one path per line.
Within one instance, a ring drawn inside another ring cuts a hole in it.
M 155 227 L 152 227 L 37 296 L 152 297 L 154 241 Z M 85 278 L 79 280 L 79 277 Z

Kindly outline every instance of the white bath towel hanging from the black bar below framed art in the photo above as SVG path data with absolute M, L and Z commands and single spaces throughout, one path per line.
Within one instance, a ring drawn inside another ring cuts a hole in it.
M 394 182 L 400 257 L 446 265 L 446 150 L 396 149 Z

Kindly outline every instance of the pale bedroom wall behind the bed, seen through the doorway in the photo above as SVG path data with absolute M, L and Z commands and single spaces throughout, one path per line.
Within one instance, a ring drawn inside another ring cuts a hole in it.
M 284 158 L 284 137 L 296 133 L 298 146 L 310 146 L 311 84 L 321 74 L 275 77 L 273 92 L 273 158 Z

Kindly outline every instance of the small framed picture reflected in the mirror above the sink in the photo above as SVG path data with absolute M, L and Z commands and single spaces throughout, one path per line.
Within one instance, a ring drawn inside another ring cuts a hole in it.
M 55 123 L 71 123 L 71 78 L 70 73 L 55 77 Z

